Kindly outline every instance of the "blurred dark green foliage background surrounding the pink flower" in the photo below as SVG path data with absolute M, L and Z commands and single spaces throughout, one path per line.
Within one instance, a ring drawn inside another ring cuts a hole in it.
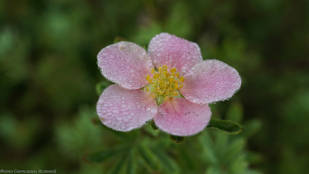
M 57 173 L 307 173 L 309 2 L 306 0 L 0 1 L 0 169 Z M 172 142 L 150 125 L 97 122 L 112 84 L 96 55 L 160 32 L 196 42 L 204 59 L 238 70 L 242 86 L 211 104 L 212 130 Z

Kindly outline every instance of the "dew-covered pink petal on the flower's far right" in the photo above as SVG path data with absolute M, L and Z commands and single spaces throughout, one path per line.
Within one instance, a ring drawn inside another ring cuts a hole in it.
M 226 100 L 240 88 L 238 72 L 218 60 L 205 60 L 193 66 L 186 74 L 186 87 L 180 89 L 193 103 L 212 103 Z

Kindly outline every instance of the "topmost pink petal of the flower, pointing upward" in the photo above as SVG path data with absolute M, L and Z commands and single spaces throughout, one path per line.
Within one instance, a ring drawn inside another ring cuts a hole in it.
M 168 33 L 160 33 L 150 40 L 148 53 L 155 67 L 175 66 L 182 73 L 203 61 L 200 47 L 193 42 Z

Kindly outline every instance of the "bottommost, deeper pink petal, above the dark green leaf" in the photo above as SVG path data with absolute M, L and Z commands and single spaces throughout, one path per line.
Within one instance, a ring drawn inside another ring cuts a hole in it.
M 191 103 L 184 98 L 171 98 L 158 107 L 154 117 L 159 129 L 176 136 L 190 136 L 207 126 L 211 111 L 208 105 Z

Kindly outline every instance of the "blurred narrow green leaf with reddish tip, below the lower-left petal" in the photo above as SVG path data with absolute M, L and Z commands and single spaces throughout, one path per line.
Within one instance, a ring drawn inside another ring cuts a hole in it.
M 117 149 L 98 151 L 90 155 L 85 155 L 83 159 L 87 162 L 100 163 L 100 162 L 103 162 L 105 159 L 108 159 L 109 157 L 112 157 L 112 156 L 120 154 L 121 152 L 124 152 L 125 150 L 127 150 L 127 148 L 121 147 Z

